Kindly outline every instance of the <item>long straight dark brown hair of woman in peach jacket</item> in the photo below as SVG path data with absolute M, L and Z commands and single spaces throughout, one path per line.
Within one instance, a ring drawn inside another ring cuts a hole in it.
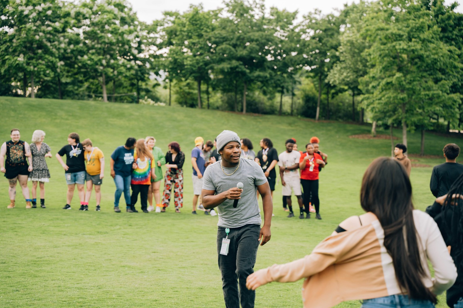
M 402 291 L 411 298 L 436 303 L 436 296 L 421 280 L 425 271 L 413 222 L 412 185 L 399 161 L 379 157 L 368 166 L 363 175 L 360 203 L 381 223 L 384 247 L 392 258 Z

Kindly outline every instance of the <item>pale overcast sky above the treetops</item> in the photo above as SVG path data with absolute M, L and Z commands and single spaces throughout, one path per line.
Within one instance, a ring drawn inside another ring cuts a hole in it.
M 150 23 L 154 19 L 162 18 L 164 11 L 179 11 L 184 12 L 188 10 L 190 4 L 198 5 L 203 4 L 205 10 L 213 10 L 219 6 L 223 6 L 221 0 L 128 0 L 133 9 L 137 12 L 138 18 L 144 22 Z M 294 12 L 299 11 L 300 14 L 306 14 L 312 12 L 318 8 L 324 14 L 334 12 L 335 9 L 341 9 L 345 3 L 352 3 L 352 0 L 265 0 L 265 6 L 276 6 L 280 10 L 287 9 L 288 11 Z M 358 2 L 358 1 L 356 1 Z M 445 3 L 449 5 L 454 1 L 446 0 Z M 457 0 L 458 3 L 461 0 Z M 457 7 L 457 12 L 463 12 L 462 5 Z

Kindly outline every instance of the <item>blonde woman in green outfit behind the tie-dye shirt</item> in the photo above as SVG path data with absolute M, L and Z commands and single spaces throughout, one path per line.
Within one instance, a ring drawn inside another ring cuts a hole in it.
M 156 139 L 153 136 L 146 137 L 145 144 L 148 147 L 148 150 L 153 153 L 153 160 L 156 163 L 156 166 L 154 167 L 154 173 L 156 174 L 156 177 L 151 178 L 151 185 L 148 189 L 148 203 L 150 204 L 148 211 L 154 210 L 154 195 L 154 200 L 156 201 L 156 213 L 158 213 L 163 207 L 161 203 L 161 193 L 159 192 L 159 187 L 161 187 L 161 180 L 163 179 L 163 170 L 161 169 L 161 166 L 166 164 L 166 157 L 164 156 L 163 151 L 155 146 Z

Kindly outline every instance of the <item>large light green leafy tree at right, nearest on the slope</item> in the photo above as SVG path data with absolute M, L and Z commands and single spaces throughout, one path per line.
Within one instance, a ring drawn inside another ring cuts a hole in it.
M 407 129 L 424 124 L 423 115 L 430 110 L 446 108 L 456 114 L 460 97 L 450 93 L 461 69 L 456 48 L 440 40 L 439 28 L 421 4 L 373 3 L 363 23 L 361 38 L 371 46 L 365 51 L 371 68 L 360 88 L 366 93 L 363 106 L 374 120 L 400 121 L 407 145 Z

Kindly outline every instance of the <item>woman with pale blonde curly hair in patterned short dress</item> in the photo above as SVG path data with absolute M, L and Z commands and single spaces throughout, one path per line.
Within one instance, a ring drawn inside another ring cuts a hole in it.
M 51 157 L 51 148 L 44 143 L 45 132 L 35 130 L 32 133 L 31 154 L 32 169 L 29 173 L 29 181 L 32 181 L 32 208 L 37 207 L 37 183 L 40 187 L 40 207 L 45 208 L 45 183 L 50 180 L 50 171 L 48 170 L 45 157 Z

